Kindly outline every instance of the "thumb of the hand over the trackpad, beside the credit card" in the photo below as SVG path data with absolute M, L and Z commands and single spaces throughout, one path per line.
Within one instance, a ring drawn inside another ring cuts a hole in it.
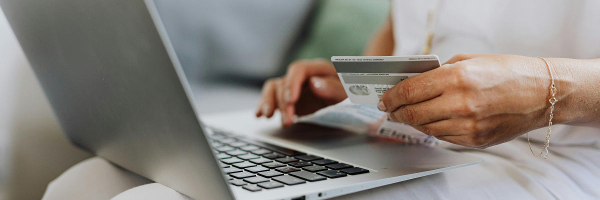
M 334 102 L 341 102 L 347 98 L 344 86 L 341 84 L 340 79 L 334 76 L 313 76 L 309 80 L 310 90 L 317 97 L 332 100 Z

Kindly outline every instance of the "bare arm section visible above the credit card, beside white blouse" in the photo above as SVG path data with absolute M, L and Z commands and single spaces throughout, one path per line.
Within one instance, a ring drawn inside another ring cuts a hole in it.
M 364 56 L 391 56 L 394 53 L 394 32 L 391 16 L 379 28 L 365 47 Z

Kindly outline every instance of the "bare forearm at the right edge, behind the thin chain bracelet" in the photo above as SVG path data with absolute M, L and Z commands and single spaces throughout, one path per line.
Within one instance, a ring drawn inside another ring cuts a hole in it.
M 549 58 L 548 62 L 558 98 L 554 123 L 600 127 L 600 59 Z

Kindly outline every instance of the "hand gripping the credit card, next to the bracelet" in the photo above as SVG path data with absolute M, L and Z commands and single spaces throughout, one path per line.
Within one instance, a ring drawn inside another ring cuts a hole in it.
M 542 59 L 460 53 L 386 91 L 378 108 L 437 139 L 487 148 L 547 125 L 549 86 Z

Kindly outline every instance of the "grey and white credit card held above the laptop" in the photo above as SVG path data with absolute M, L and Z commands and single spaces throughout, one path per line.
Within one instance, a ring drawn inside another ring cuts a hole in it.
M 398 82 L 440 67 L 437 55 L 333 56 L 331 61 L 350 102 L 370 105 Z

